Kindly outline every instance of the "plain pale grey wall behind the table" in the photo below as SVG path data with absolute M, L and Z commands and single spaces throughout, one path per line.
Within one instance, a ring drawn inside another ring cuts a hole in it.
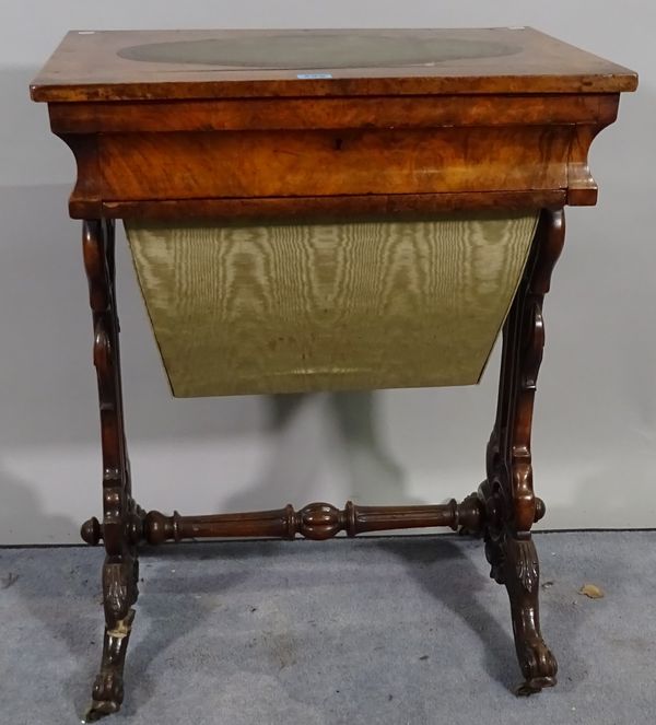
M 599 204 L 569 212 L 534 428 L 548 528 L 656 525 L 656 5 L 651 0 L 1 0 L 0 543 L 75 542 L 101 513 L 75 172 L 27 86 L 69 28 L 532 25 L 641 74 L 595 141 Z M 122 235 L 127 426 L 144 507 L 210 513 L 464 496 L 483 477 L 497 356 L 460 389 L 175 400 Z

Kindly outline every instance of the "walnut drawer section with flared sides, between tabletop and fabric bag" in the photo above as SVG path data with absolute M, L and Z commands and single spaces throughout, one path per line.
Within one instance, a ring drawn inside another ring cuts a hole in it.
M 595 203 L 587 153 L 618 104 L 619 94 L 56 103 L 50 121 L 78 160 L 74 218 L 175 209 L 266 223 L 284 207 L 345 221 Z

